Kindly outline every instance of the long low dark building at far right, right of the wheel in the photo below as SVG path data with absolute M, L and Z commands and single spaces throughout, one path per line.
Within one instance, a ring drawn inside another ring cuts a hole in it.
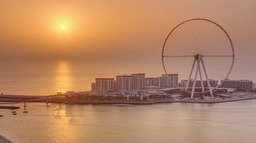
M 252 90 L 252 88 L 253 88 L 253 81 L 250 81 L 250 80 L 230 80 L 230 79 L 226 79 L 220 85 L 220 87 L 221 88 L 235 88 L 237 91 L 248 91 L 248 90 Z

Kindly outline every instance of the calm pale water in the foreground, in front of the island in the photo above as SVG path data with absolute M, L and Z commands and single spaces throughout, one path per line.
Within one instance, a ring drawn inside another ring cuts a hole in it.
M 255 143 L 256 100 L 218 104 L 64 105 L 0 109 L 17 143 Z

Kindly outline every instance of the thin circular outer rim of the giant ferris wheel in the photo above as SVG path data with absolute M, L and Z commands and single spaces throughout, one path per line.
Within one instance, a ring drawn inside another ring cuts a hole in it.
M 230 45 L 231 45 L 231 49 L 232 49 L 232 55 L 233 55 L 233 56 L 232 56 L 232 63 L 231 63 L 231 66 L 230 66 L 230 70 L 229 70 L 229 72 L 227 73 L 227 76 L 224 78 L 224 80 L 223 80 L 220 84 L 218 84 L 217 86 L 213 87 L 212 90 L 214 90 L 215 88 L 219 87 L 219 86 L 228 78 L 228 76 L 230 75 L 230 73 L 231 73 L 231 71 L 232 71 L 232 69 L 233 69 L 234 61 L 235 61 L 235 51 L 234 51 L 233 42 L 232 42 L 230 36 L 227 34 L 227 31 L 225 31 L 224 28 L 222 28 L 220 25 L 218 25 L 217 23 L 215 23 L 215 22 L 213 22 L 213 21 L 211 21 L 211 20 L 201 19 L 201 18 L 186 20 L 186 21 L 180 23 L 179 25 L 177 25 L 175 28 L 172 29 L 172 31 L 171 31 L 171 32 L 168 34 L 168 36 L 166 37 L 165 42 L 163 43 L 163 49 L 162 49 L 162 64 L 163 64 L 163 69 L 164 69 L 166 75 L 168 75 L 168 73 L 166 72 L 166 68 L 165 68 L 165 66 L 164 66 L 164 61 L 163 61 L 163 51 L 164 51 L 164 47 L 165 47 L 165 44 L 166 44 L 167 39 L 169 38 L 169 36 L 172 34 L 172 32 L 173 32 L 177 27 L 179 27 L 180 25 L 182 25 L 182 24 L 185 23 L 185 22 L 189 22 L 189 21 L 192 21 L 192 20 L 204 20 L 204 21 L 208 21 L 208 22 L 211 22 L 211 23 L 217 25 L 217 26 L 218 26 L 219 28 L 221 28 L 221 30 L 226 34 L 227 38 L 228 38 L 229 41 L 230 41 Z M 169 78 L 169 76 L 167 76 L 167 77 L 168 77 L 168 79 L 172 82 L 172 80 Z M 176 85 L 175 83 L 172 82 L 172 84 L 174 84 L 175 87 L 178 87 L 178 88 L 180 88 L 181 90 L 184 90 L 184 89 L 182 89 L 180 86 Z M 211 87 L 211 88 L 212 88 L 212 87 Z M 186 91 L 186 90 L 184 90 L 184 91 Z M 186 92 L 191 93 L 190 91 L 186 91 Z M 209 90 L 204 91 L 204 92 L 195 92 L 195 93 L 207 93 L 207 92 L 209 92 Z

